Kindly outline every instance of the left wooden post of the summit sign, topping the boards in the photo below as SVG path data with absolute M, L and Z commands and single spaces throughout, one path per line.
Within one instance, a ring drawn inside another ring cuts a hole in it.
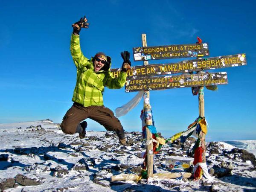
M 142 45 L 143 47 L 147 47 L 147 39 L 146 34 L 142 34 Z M 144 65 L 147 65 L 148 61 L 144 61 Z M 149 91 L 144 92 L 144 108 L 145 113 L 151 113 L 151 106 L 149 104 Z M 152 125 L 152 116 L 151 119 L 146 119 L 146 125 Z M 152 134 L 150 130 L 146 127 L 146 134 L 147 134 L 147 140 L 152 139 Z M 147 145 L 147 174 L 148 177 L 153 177 L 153 166 L 154 166 L 154 154 L 153 154 L 153 143 L 151 142 L 149 145 Z

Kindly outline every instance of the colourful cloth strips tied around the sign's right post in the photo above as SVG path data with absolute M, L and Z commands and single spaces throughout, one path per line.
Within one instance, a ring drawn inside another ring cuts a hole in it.
M 208 177 L 208 175 L 206 175 L 208 173 L 205 172 L 204 167 L 201 167 L 201 163 L 203 163 L 203 159 L 202 159 L 202 154 L 204 152 L 204 148 L 201 145 L 201 133 L 207 134 L 207 121 L 205 119 L 205 117 L 201 117 L 199 116 L 197 119 L 195 119 L 195 122 L 191 123 L 188 126 L 188 129 L 186 131 L 182 131 L 179 132 L 177 134 L 175 134 L 174 136 L 172 136 L 169 140 L 170 143 L 173 143 L 174 140 L 180 138 L 180 142 L 184 143 L 186 141 L 186 139 L 190 136 L 195 136 L 198 139 L 195 142 L 195 145 L 193 146 L 193 154 L 194 154 L 194 166 L 196 166 L 196 169 L 193 169 L 193 176 L 195 179 L 200 179 L 202 177 L 202 175 L 205 175 L 205 177 L 208 179 L 210 177 Z M 206 164 L 206 163 L 205 163 Z

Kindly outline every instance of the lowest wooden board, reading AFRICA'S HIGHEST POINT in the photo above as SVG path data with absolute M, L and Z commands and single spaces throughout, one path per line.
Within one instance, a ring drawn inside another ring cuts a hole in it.
M 227 73 L 198 73 L 180 76 L 147 77 L 129 79 L 125 82 L 125 92 L 160 90 L 182 87 L 201 87 L 227 84 Z

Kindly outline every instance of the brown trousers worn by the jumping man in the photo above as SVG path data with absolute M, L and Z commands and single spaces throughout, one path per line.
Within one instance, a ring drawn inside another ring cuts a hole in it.
M 103 125 L 108 131 L 116 131 L 120 139 L 125 138 L 124 129 L 119 119 L 114 116 L 113 111 L 102 106 L 89 106 L 74 102 L 73 106 L 67 111 L 61 122 L 61 129 L 65 134 L 76 133 L 77 125 L 84 119 L 93 119 Z

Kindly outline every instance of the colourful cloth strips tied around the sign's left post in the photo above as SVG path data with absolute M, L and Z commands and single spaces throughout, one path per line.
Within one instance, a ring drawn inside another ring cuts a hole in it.
M 160 138 L 159 135 L 157 134 L 157 129 L 155 128 L 154 126 L 154 118 L 153 118 L 153 115 L 152 115 L 152 110 L 150 110 L 151 113 L 151 119 L 152 119 L 152 125 L 146 125 L 146 112 L 144 110 L 141 111 L 141 114 L 140 114 L 140 119 L 141 119 L 141 122 L 142 122 L 142 135 L 143 135 L 143 138 L 146 139 L 147 138 L 147 134 L 146 134 L 146 128 L 148 128 L 152 134 L 152 139 L 151 140 L 146 140 L 146 143 L 145 145 L 150 145 L 151 143 L 153 143 L 153 154 L 157 154 L 160 149 L 162 148 L 162 145 L 165 145 L 168 140 L 165 140 L 163 138 Z M 147 156 L 147 153 L 145 152 L 144 155 L 143 155 L 143 158 L 144 158 L 144 161 L 143 161 L 143 170 L 141 171 L 139 177 L 137 178 L 137 182 L 140 180 L 140 179 L 146 179 L 148 178 L 148 175 L 147 175 L 147 172 L 146 172 L 146 167 L 147 167 L 147 161 L 146 161 L 146 156 Z M 154 164 L 154 163 L 153 163 Z M 154 170 L 154 166 L 153 166 L 153 172 L 155 173 L 155 170 Z

